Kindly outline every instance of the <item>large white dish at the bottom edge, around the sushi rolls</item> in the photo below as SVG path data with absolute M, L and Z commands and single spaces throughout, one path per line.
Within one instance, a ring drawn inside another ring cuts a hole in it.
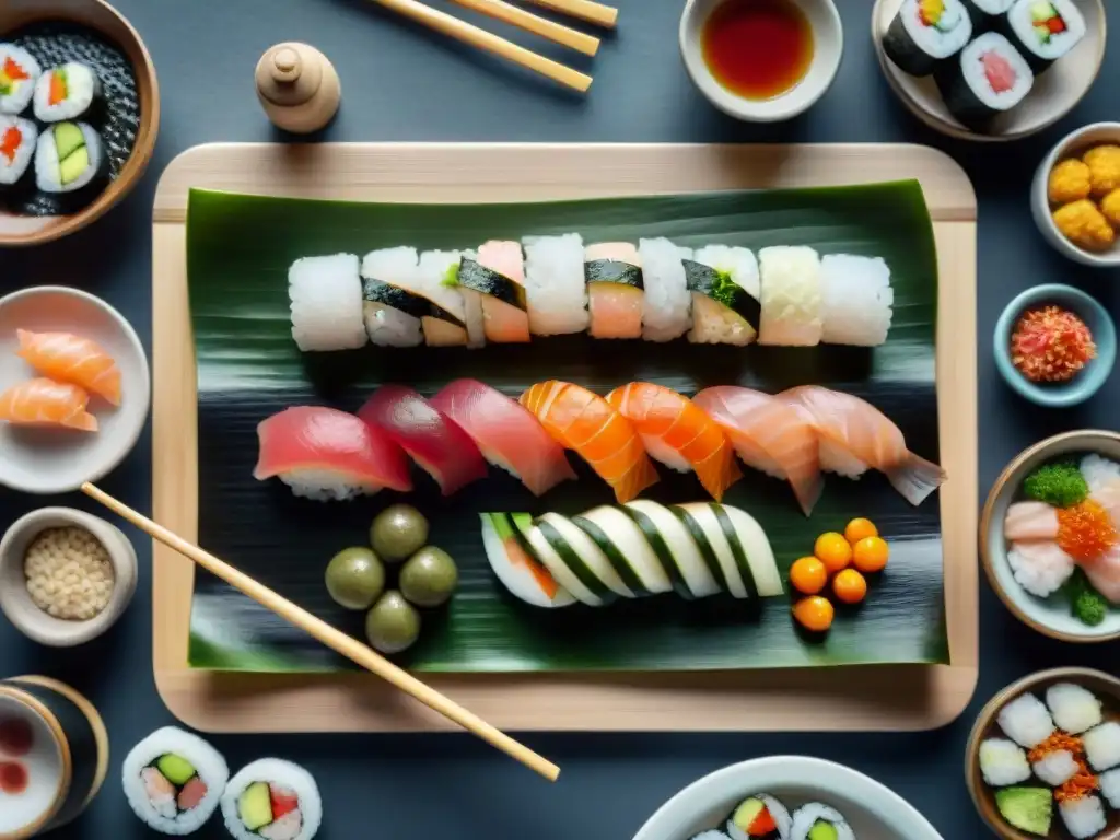
M 842 813 L 860 840 L 943 840 L 913 805 L 862 773 L 820 758 L 772 756 L 732 764 L 693 782 L 662 805 L 634 840 L 690 840 L 722 830 L 753 793 L 768 793 L 791 812 L 823 802 Z

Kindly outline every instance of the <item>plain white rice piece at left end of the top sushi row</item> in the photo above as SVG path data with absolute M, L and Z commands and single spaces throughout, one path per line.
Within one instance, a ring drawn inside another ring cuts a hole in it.
M 358 268 L 355 254 L 334 254 L 305 256 L 288 269 L 291 336 L 305 353 L 353 349 L 370 340 Z

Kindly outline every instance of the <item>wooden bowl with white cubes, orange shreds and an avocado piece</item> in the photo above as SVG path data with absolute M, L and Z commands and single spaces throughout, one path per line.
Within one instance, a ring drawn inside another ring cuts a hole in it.
M 980 711 L 964 780 L 1004 840 L 1120 838 L 1120 680 L 1060 668 L 1019 680 Z

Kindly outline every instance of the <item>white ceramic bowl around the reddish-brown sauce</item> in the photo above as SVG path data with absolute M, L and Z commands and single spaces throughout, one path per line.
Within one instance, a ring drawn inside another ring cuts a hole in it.
M 843 55 L 843 27 L 832 0 L 793 0 L 813 31 L 813 60 L 804 78 L 778 96 L 748 100 L 724 87 L 703 60 L 704 21 L 726 0 L 688 0 L 681 15 L 681 56 L 692 83 L 720 111 L 747 122 L 778 122 L 808 111 L 832 85 Z M 744 49 L 749 46 L 744 45 Z

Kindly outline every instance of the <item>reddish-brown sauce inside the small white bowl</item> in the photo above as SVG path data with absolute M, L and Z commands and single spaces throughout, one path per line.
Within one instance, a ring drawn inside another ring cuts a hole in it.
M 701 32 L 704 64 L 724 87 L 748 100 L 793 88 L 813 60 L 813 30 L 793 0 L 726 0 Z

